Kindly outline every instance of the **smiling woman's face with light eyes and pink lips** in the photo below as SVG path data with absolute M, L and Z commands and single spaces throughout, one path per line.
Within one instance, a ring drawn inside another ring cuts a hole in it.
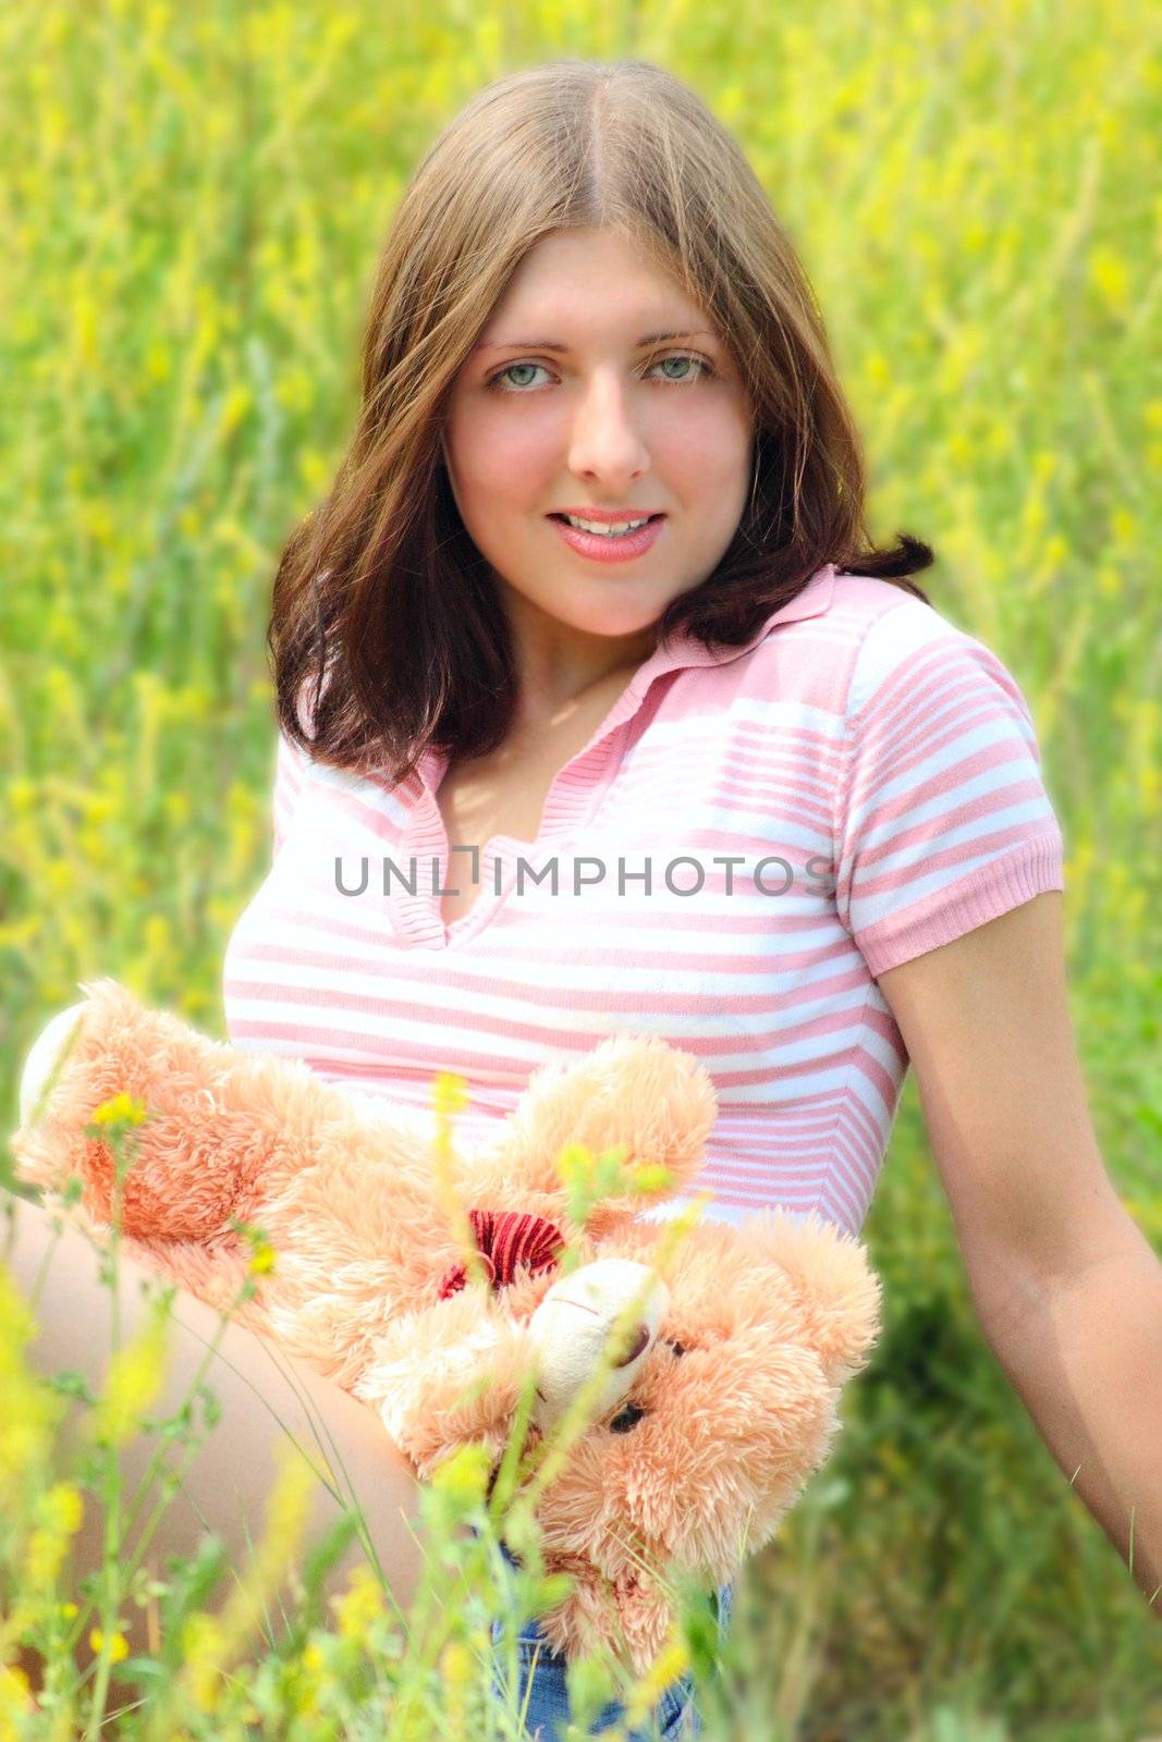
M 652 646 L 669 601 L 733 538 L 751 453 L 747 395 L 706 314 L 598 228 L 521 261 L 453 381 L 444 432 L 463 524 L 517 627 L 545 646 Z M 646 550 L 603 540 L 601 561 L 554 519 L 591 509 L 664 519 Z

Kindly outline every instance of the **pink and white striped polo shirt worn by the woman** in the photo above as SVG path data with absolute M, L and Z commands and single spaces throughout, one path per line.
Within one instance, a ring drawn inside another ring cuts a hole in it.
M 230 1038 L 371 1111 L 390 1097 L 425 1141 L 432 1077 L 458 1071 L 467 1148 L 537 1066 L 662 1035 L 714 1082 L 702 1186 L 726 1221 L 779 1204 L 857 1233 L 908 1070 L 876 976 L 1064 887 L 1007 667 L 834 564 L 746 646 L 659 646 L 552 780 L 535 843 L 497 836 L 474 868 L 436 803 L 444 766 L 429 749 L 392 787 L 279 737 Z M 444 927 L 439 892 L 465 878 L 476 902 Z

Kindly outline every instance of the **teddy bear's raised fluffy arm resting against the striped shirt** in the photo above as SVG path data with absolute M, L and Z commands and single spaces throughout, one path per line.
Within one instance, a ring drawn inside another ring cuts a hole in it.
M 491 1169 L 507 1197 L 538 1214 L 564 1216 L 570 1192 L 561 1153 L 571 1144 L 594 1157 L 617 1150 L 625 1167 L 643 1171 L 643 1185 L 653 1176 L 657 1183 L 594 1204 L 585 1226 L 605 1235 L 646 1204 L 690 1190 L 716 1115 L 714 1084 L 690 1052 L 657 1035 L 610 1035 L 577 1063 L 542 1064 L 533 1073 L 503 1138 L 477 1158 L 474 1178 Z

